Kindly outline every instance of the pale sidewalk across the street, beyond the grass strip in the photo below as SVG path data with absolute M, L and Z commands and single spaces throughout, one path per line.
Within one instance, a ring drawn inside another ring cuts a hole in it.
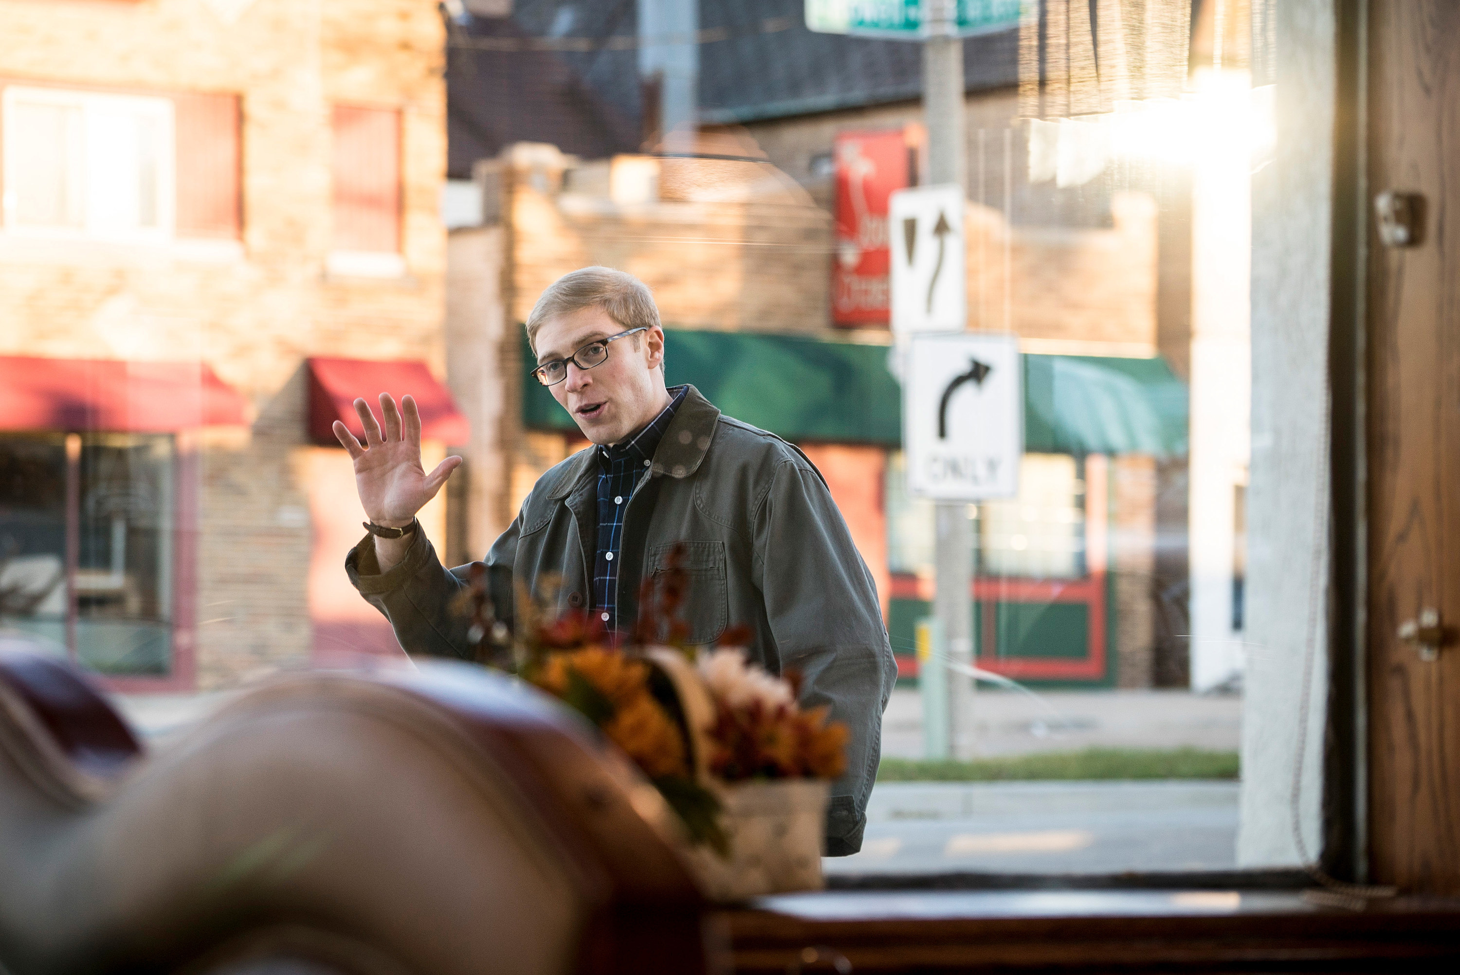
M 1088 747 L 1235 752 L 1242 699 L 1188 690 L 1016 690 L 974 695 L 980 758 Z M 923 698 L 896 689 L 882 715 L 882 758 L 923 758 Z

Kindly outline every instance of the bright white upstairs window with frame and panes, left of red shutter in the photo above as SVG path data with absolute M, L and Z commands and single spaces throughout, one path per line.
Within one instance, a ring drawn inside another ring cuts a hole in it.
M 12 85 L 0 111 L 7 229 L 123 241 L 172 235 L 171 99 Z

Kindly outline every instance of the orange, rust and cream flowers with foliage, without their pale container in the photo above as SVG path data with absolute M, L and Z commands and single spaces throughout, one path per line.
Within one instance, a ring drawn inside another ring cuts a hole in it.
M 594 613 L 548 619 L 518 591 L 517 639 L 508 641 L 479 568 L 463 610 L 480 661 L 517 673 L 597 725 L 654 782 L 691 839 L 724 860 L 734 832 L 727 787 L 834 779 L 847 765 L 848 733 L 828 721 L 828 708 L 797 705 L 796 674 L 777 677 L 746 660 L 748 631 L 727 631 L 712 648 L 689 647 L 677 619 L 686 590 L 675 553 L 667 571 L 645 582 L 639 623 L 626 639 L 607 633 Z M 691 706 L 686 698 L 708 704 Z M 819 877 L 819 861 L 816 868 Z

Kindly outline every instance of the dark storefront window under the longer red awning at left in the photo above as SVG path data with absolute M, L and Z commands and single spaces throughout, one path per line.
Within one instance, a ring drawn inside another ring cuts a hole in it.
M 172 668 L 174 442 L 0 436 L 0 632 L 117 676 Z

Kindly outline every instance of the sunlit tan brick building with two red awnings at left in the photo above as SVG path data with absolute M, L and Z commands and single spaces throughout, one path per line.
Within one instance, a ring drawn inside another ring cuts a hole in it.
M 323 444 L 378 390 L 466 439 L 437 4 L 6 0 L 0 36 L 0 625 L 133 690 L 393 650 Z

